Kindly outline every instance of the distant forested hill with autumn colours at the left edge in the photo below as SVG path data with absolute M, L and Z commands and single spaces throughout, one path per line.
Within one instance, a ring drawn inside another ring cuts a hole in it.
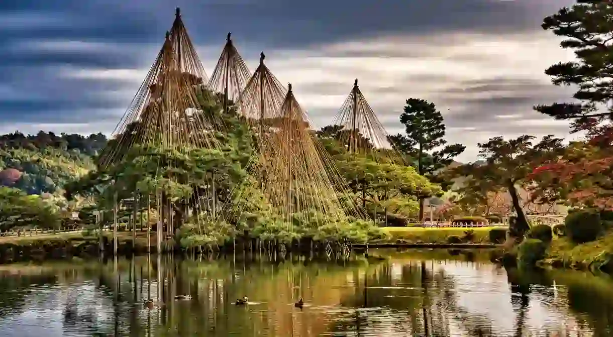
M 93 157 L 106 143 L 104 134 L 40 131 L 36 135 L 0 135 L 0 186 L 28 194 L 59 193 L 64 184 L 94 168 Z

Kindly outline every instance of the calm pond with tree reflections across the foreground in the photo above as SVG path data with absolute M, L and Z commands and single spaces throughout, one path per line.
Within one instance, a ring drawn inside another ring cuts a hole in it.
M 371 252 L 373 253 L 373 252 Z M 487 251 L 0 266 L 0 336 L 611 336 L 613 282 Z M 191 300 L 175 300 L 176 295 Z M 235 305 L 248 297 L 247 305 Z M 304 299 L 303 308 L 294 302 Z M 143 304 L 151 298 L 153 305 Z

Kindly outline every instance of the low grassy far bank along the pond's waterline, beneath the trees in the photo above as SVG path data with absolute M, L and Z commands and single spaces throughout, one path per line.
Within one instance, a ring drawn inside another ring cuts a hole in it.
M 482 249 L 497 248 L 498 244 L 490 243 L 490 228 L 444 228 L 431 229 L 422 227 L 386 227 L 383 228 L 389 238 L 383 241 L 368 243 L 368 248 L 432 248 L 432 249 Z M 155 233 L 151 233 L 150 241 L 146 237 L 132 238 L 131 232 L 118 232 L 118 256 L 132 256 L 158 253 L 157 243 L 154 241 Z M 459 241 L 449 242 L 449 238 Z M 153 240 L 152 240 L 153 239 Z M 367 244 L 352 244 L 351 248 L 362 251 Z M 164 241 L 161 245 L 162 253 L 195 254 L 194 249 L 185 250 L 175 246 L 173 240 Z M 307 243 L 295 242 L 284 246 L 286 252 L 295 253 L 323 253 L 326 251 L 340 252 L 345 246 L 310 241 Z M 235 244 L 215 247 L 213 252 L 244 252 L 244 251 L 279 251 L 273 244 L 261 244 L 257 240 L 236 240 Z M 58 235 L 45 235 L 33 237 L 4 237 L 0 238 L 0 263 L 21 262 L 28 260 L 66 259 L 70 257 L 108 257 L 113 256 L 112 235 L 105 235 L 102 250 L 99 238 L 84 235 L 83 233 L 69 233 Z

